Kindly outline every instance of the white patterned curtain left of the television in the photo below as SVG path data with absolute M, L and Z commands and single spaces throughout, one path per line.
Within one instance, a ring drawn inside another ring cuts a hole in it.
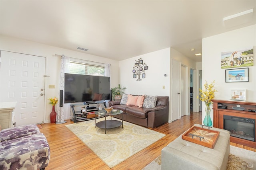
M 64 120 L 65 113 L 64 113 L 64 76 L 65 72 L 69 73 L 69 65 L 70 65 L 70 58 L 64 55 L 61 56 L 61 65 L 60 65 L 60 90 L 63 90 L 63 98 L 62 98 L 62 106 L 60 107 L 60 103 L 57 104 L 57 120 L 56 124 L 66 123 Z M 60 92 L 59 92 L 60 96 Z

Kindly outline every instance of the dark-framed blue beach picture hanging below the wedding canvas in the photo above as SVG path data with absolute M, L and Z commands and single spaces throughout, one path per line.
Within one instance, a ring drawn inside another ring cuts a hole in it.
M 226 82 L 248 82 L 249 68 L 236 68 L 225 70 Z

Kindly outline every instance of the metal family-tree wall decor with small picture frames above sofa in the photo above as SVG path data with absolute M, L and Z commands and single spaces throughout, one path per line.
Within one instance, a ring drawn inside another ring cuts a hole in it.
M 137 81 L 141 81 L 141 77 L 146 78 L 145 70 L 148 70 L 148 66 L 146 63 L 143 63 L 143 59 L 140 58 L 135 60 L 135 64 L 132 70 L 133 78 L 137 78 Z

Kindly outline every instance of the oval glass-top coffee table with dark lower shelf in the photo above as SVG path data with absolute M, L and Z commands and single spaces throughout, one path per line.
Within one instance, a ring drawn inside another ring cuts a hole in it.
M 110 111 L 110 112 L 108 112 L 106 110 L 95 111 L 95 118 L 97 117 L 97 115 L 105 116 L 105 120 L 100 121 L 98 123 L 96 122 L 97 119 L 95 119 L 95 128 L 99 127 L 99 128 L 105 129 L 105 134 L 106 134 L 107 129 L 119 127 L 121 125 L 123 128 L 123 114 L 122 113 L 123 113 L 123 111 L 119 110 L 119 109 L 112 109 L 112 111 Z M 112 119 L 113 115 L 119 115 L 119 114 L 122 114 L 122 121 Z M 106 120 L 107 116 L 111 116 L 111 120 Z

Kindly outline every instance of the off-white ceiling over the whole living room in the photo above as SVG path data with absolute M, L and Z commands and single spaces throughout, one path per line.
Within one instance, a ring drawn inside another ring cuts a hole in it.
M 172 47 L 200 62 L 202 38 L 254 24 L 256 0 L 0 0 L 0 34 L 118 61 Z

